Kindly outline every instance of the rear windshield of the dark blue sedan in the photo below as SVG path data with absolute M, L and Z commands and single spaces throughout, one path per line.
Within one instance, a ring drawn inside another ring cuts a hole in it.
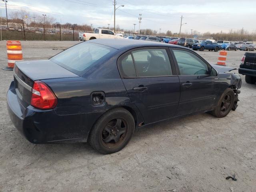
M 115 50 L 114 48 L 100 44 L 82 42 L 60 52 L 50 58 L 50 60 L 82 76 L 92 66 L 100 63 L 108 54 L 115 52 Z

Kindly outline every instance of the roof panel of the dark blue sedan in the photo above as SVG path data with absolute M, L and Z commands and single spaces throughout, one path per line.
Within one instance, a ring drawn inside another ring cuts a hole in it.
M 168 43 L 162 43 L 162 42 L 154 42 L 154 41 L 145 41 L 145 40 L 128 40 L 128 39 L 93 39 L 89 40 L 87 42 L 101 44 L 105 46 L 109 46 L 115 49 L 121 49 L 126 46 L 132 46 L 134 48 L 136 47 L 143 47 L 143 46 L 158 46 L 158 47 L 178 47 L 180 46 L 168 44 Z

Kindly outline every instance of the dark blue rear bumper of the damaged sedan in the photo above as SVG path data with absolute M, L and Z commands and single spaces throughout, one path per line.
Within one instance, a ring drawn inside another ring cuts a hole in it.
M 16 129 L 32 143 L 86 142 L 96 120 L 104 112 L 58 115 L 54 110 L 24 108 L 18 101 L 13 82 L 7 92 L 7 108 Z

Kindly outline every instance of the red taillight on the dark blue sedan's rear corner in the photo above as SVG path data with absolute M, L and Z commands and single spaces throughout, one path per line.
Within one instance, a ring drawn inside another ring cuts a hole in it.
M 57 98 L 44 82 L 35 81 L 32 88 L 31 105 L 39 109 L 53 109 L 57 105 Z

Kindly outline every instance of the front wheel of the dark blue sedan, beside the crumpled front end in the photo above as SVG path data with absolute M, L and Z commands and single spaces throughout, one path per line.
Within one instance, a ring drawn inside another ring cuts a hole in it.
M 212 111 L 212 115 L 223 118 L 233 108 L 235 102 L 235 93 L 232 89 L 227 88 L 220 97 L 216 108 Z

